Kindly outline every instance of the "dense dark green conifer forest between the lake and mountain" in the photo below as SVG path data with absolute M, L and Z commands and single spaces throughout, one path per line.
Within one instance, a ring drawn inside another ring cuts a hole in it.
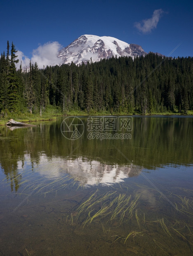
M 0 57 L 0 114 L 69 111 L 140 114 L 193 110 L 193 57 L 112 57 L 16 70 L 14 44 Z

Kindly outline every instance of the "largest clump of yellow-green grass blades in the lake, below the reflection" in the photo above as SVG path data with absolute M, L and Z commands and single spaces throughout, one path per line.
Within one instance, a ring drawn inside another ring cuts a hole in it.
M 77 208 L 77 219 L 84 218 L 83 227 L 90 225 L 93 220 L 99 221 L 106 217 L 106 222 L 118 220 L 121 225 L 123 221 L 128 221 L 133 216 L 139 198 L 140 194 L 135 194 L 132 200 L 131 195 L 121 194 L 117 191 L 109 191 L 100 195 L 96 190 Z M 85 215 L 86 217 L 84 217 Z M 137 221 L 140 222 L 138 216 Z

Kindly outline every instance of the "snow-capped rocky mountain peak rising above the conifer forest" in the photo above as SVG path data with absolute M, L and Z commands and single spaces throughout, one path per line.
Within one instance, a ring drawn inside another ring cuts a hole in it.
M 141 56 L 146 52 L 140 45 L 128 44 L 110 36 L 83 35 L 60 50 L 58 57 L 62 63 L 80 64 L 92 58 L 93 62 L 112 56 Z

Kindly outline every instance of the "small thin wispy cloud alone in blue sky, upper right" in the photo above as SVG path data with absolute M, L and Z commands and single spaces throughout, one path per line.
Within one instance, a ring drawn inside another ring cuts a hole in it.
M 150 33 L 153 28 L 156 28 L 158 21 L 160 20 L 162 9 L 157 9 L 153 12 L 153 15 L 149 19 L 143 19 L 141 22 L 135 22 L 134 26 L 142 33 Z

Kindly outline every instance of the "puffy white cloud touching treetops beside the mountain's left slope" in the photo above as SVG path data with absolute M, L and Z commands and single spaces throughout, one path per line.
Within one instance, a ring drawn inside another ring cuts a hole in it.
M 40 45 L 36 50 L 33 50 L 31 62 L 37 65 L 40 69 L 45 66 L 55 66 L 61 63 L 61 59 L 58 58 L 58 51 L 62 45 L 58 42 L 48 42 L 44 45 Z

